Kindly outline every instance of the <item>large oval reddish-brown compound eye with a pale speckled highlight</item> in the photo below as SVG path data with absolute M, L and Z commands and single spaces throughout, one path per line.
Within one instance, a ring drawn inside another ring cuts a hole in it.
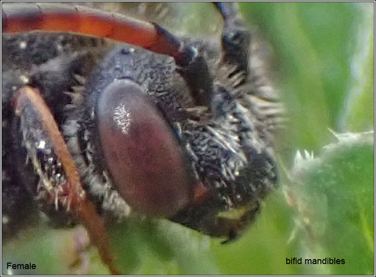
M 99 97 L 97 119 L 104 162 L 128 204 L 165 217 L 187 205 L 183 152 L 142 87 L 129 79 L 111 83 Z

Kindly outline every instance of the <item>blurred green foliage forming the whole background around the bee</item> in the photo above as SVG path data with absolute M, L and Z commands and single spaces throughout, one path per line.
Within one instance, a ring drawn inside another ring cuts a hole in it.
M 374 129 L 374 3 L 240 6 L 269 43 L 272 79 L 288 110 L 287 130 L 278 142 L 281 187 L 266 199 L 250 230 L 225 245 L 167 220 L 133 218 L 112 226 L 117 266 L 124 274 L 144 275 L 373 275 L 374 134 L 333 135 L 328 128 Z M 207 3 L 174 8 L 185 16 L 170 16 L 165 27 L 217 30 L 220 19 Z M 7 260 L 37 263 L 31 274 L 108 273 L 93 248 L 69 268 L 77 256 L 71 250 L 77 232 L 25 232 L 3 246 L 2 273 L 9 273 Z M 292 257 L 346 263 L 286 265 Z

